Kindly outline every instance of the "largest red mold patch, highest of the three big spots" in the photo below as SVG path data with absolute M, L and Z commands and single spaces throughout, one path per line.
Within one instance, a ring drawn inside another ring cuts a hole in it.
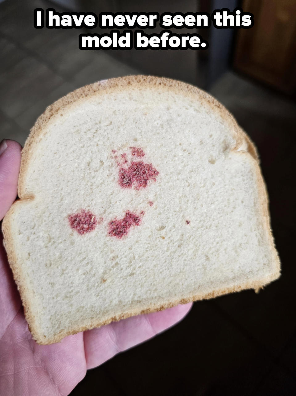
M 133 161 L 128 168 L 119 169 L 119 184 L 123 188 L 133 187 L 135 190 L 140 190 L 147 187 L 149 180 L 156 181 L 158 173 L 151 164 Z

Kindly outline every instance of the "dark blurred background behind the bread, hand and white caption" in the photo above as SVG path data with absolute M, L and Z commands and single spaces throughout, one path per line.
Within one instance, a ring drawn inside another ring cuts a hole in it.
M 211 13 L 236 6 L 254 14 L 254 27 L 201 29 L 206 51 L 81 51 L 81 30 L 33 27 L 34 8 Z M 296 394 L 295 49 L 296 0 L 1 2 L 0 140 L 23 145 L 47 105 L 103 78 L 143 73 L 195 84 L 258 147 L 282 261 L 280 280 L 259 294 L 194 303 L 177 326 L 88 371 L 72 396 Z

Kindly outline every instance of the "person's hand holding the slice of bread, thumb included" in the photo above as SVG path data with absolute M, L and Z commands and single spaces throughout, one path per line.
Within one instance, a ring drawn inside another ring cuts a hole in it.
M 6 143 L 0 147 L 6 148 L 0 155 L 0 220 L 17 196 L 21 160 L 21 146 Z M 178 305 L 70 335 L 57 344 L 38 345 L 28 330 L 1 237 L 0 395 L 68 395 L 87 369 L 172 326 L 190 307 Z

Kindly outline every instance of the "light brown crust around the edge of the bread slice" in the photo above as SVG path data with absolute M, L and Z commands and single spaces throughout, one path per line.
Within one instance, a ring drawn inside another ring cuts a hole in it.
M 121 89 L 127 88 L 153 88 L 158 90 L 171 90 L 176 93 L 180 93 L 182 91 L 187 96 L 192 96 L 194 99 L 202 102 L 206 102 L 212 110 L 218 112 L 224 120 L 229 124 L 230 130 L 233 131 L 234 138 L 236 140 L 236 145 L 233 148 L 234 151 L 237 152 L 238 155 L 248 155 L 253 158 L 254 167 L 256 169 L 256 177 L 258 183 L 258 190 L 260 192 L 260 213 L 258 213 L 258 217 L 262 219 L 262 227 L 266 231 L 268 236 L 268 240 L 270 243 L 270 249 L 273 251 L 273 258 L 275 263 L 275 271 L 265 278 L 260 280 L 256 280 L 254 282 L 248 282 L 241 285 L 234 285 L 233 287 L 228 287 L 224 289 L 216 289 L 206 294 L 194 294 L 189 297 L 183 297 L 181 299 L 177 299 L 174 301 L 167 301 L 165 303 L 159 305 L 150 305 L 147 308 L 138 308 L 132 310 L 130 312 L 123 312 L 121 314 L 115 315 L 111 318 L 107 318 L 106 320 L 94 320 L 84 324 L 81 326 L 77 326 L 72 328 L 71 330 L 62 330 L 57 333 L 54 337 L 48 338 L 43 337 L 38 330 L 38 326 L 36 324 L 36 320 L 34 314 L 30 308 L 30 294 L 31 291 L 26 287 L 24 282 L 24 276 L 22 274 L 22 265 L 17 261 L 16 248 L 13 242 L 13 235 L 11 230 L 11 218 L 15 211 L 17 205 L 22 205 L 22 203 L 26 200 L 34 199 L 34 196 L 28 192 L 25 192 L 25 177 L 28 167 L 30 166 L 30 159 L 32 158 L 32 152 L 34 151 L 34 147 L 38 145 L 38 141 L 41 139 L 42 131 L 44 126 L 51 120 L 53 116 L 55 116 L 60 110 L 65 109 L 66 107 L 71 106 L 73 103 L 83 100 L 83 98 L 88 98 L 92 95 L 100 95 L 101 93 L 108 93 L 111 91 L 120 91 Z M 247 150 L 239 150 L 239 147 L 243 142 L 247 143 Z M 22 160 L 21 160 L 21 169 L 19 173 L 19 183 L 18 183 L 18 195 L 19 200 L 15 201 L 15 203 L 11 206 L 8 213 L 4 217 L 2 223 L 2 231 L 4 234 L 4 246 L 7 251 L 9 265 L 13 272 L 13 277 L 19 289 L 19 293 L 21 295 L 21 299 L 23 301 L 25 317 L 28 322 L 29 330 L 32 333 L 33 339 L 36 340 L 38 344 L 51 344 L 57 343 L 62 338 L 67 335 L 78 333 L 79 331 L 85 331 L 92 329 L 94 327 L 100 327 L 110 322 L 118 321 L 124 318 L 128 318 L 130 316 L 138 315 L 138 314 L 146 314 L 151 312 L 156 312 L 160 310 L 164 310 L 166 308 L 174 307 L 178 304 L 186 304 L 191 301 L 197 301 L 202 299 L 211 299 L 213 297 L 217 297 L 219 295 L 233 293 L 237 291 L 241 291 L 243 289 L 255 289 L 258 291 L 263 288 L 266 284 L 269 284 L 273 280 L 276 280 L 280 276 L 280 261 L 277 251 L 274 248 L 273 236 L 270 228 L 270 217 L 268 212 L 268 194 L 266 190 L 266 186 L 264 184 L 264 180 L 258 166 L 258 154 L 256 152 L 255 145 L 251 142 L 247 134 L 239 128 L 236 120 L 226 110 L 221 103 L 219 103 L 216 99 L 211 97 L 205 91 L 202 91 L 199 88 L 191 86 L 189 84 L 185 84 L 184 82 L 180 82 L 177 80 L 171 80 L 168 78 L 159 78 L 154 76 L 126 76 L 120 78 L 112 78 L 109 80 L 102 80 L 99 82 L 95 82 L 94 84 L 90 84 L 84 86 L 82 88 L 76 89 L 75 91 L 69 93 L 68 95 L 62 97 L 45 110 L 43 114 L 36 120 L 35 125 L 30 131 L 30 135 L 25 143 L 25 147 L 22 151 Z

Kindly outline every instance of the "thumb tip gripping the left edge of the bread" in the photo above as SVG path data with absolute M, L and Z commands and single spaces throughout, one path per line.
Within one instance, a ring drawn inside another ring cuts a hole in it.
M 0 143 L 0 220 L 17 197 L 21 149 L 14 140 L 2 140 Z

